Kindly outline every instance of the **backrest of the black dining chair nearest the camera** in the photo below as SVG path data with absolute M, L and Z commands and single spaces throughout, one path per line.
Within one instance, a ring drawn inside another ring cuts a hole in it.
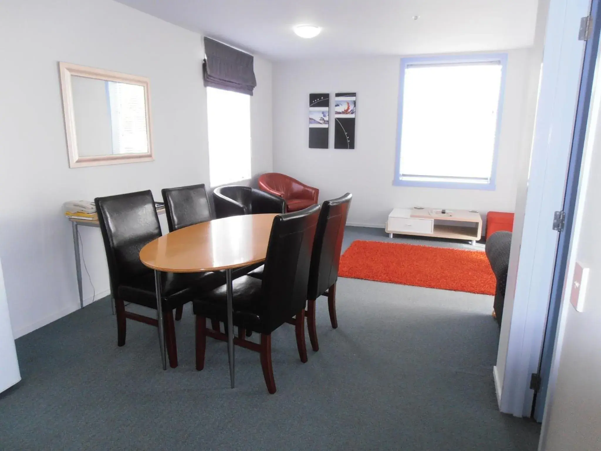
M 261 321 L 275 330 L 307 304 L 319 205 L 273 218 L 263 270 Z

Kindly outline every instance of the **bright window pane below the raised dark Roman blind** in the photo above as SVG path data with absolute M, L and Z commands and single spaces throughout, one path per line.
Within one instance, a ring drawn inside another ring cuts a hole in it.
M 251 96 L 207 87 L 211 186 L 251 178 Z

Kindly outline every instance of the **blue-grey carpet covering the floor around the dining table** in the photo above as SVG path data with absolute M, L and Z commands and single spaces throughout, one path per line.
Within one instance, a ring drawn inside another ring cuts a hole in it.
M 349 230 L 353 239 L 383 239 Z M 444 244 L 441 244 L 444 245 Z M 1 450 L 535 450 L 540 428 L 498 412 L 492 296 L 340 279 L 339 328 L 320 298 L 320 351 L 302 364 L 292 326 L 273 334 L 278 391 L 258 354 L 177 324 L 177 369 L 156 329 L 128 321 L 117 348 L 107 299 L 17 340 L 23 381 L 0 395 Z M 256 337 L 254 337 L 256 339 Z

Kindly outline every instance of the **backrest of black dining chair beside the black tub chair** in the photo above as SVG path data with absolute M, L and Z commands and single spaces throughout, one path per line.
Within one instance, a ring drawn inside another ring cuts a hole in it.
M 165 202 L 169 232 L 214 219 L 204 183 L 165 188 L 161 193 Z

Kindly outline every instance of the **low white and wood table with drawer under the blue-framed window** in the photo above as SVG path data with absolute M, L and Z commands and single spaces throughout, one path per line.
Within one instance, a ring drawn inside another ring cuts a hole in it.
M 482 235 L 480 213 L 468 210 L 448 210 L 447 214 L 434 214 L 439 209 L 395 208 L 388 215 L 386 233 L 390 238 L 400 235 L 432 236 L 435 238 L 462 239 L 475 244 Z

